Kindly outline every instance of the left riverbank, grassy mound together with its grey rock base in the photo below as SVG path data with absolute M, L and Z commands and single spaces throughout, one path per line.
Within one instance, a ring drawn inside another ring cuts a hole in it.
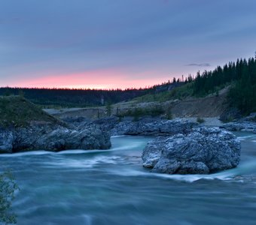
M 66 124 L 18 96 L 0 98 L 0 153 L 110 148 L 110 133 L 99 125 Z

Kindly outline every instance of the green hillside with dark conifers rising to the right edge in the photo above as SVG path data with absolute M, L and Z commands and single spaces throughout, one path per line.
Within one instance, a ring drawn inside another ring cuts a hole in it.
M 136 98 L 143 102 L 164 102 L 175 99 L 187 101 L 187 98 L 205 98 L 220 95 L 227 88 L 228 107 L 236 108 L 242 115 L 256 111 L 256 59 L 237 59 L 213 71 L 200 71 L 194 79 L 186 79 L 183 86 L 161 93 L 149 93 Z M 200 101 L 200 100 L 198 100 Z M 197 100 L 195 100 L 197 102 Z M 212 107 L 215 107 L 212 102 Z M 202 108 L 204 104 L 202 105 Z

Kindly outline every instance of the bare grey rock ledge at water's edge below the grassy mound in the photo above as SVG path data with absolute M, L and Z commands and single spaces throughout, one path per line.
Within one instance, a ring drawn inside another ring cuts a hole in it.
M 31 125 L 0 131 L 0 152 L 110 148 L 110 134 L 95 124 L 78 130 L 57 124 Z

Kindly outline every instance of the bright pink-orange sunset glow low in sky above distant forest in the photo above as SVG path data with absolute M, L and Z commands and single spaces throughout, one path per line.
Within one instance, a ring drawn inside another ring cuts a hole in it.
M 159 73 L 159 72 L 158 72 Z M 156 76 L 154 76 L 156 74 Z M 154 86 L 170 79 L 157 78 L 157 72 L 130 74 L 117 70 L 85 71 L 77 74 L 56 74 L 16 80 L 8 86 L 59 89 L 128 89 Z M 11 84 L 11 85 L 10 85 Z

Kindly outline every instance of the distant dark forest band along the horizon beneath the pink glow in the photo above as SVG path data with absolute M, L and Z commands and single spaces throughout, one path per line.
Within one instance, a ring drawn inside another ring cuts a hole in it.
M 151 92 L 152 89 L 29 89 L 0 88 L 0 95 L 22 95 L 44 107 L 90 107 L 129 101 Z

